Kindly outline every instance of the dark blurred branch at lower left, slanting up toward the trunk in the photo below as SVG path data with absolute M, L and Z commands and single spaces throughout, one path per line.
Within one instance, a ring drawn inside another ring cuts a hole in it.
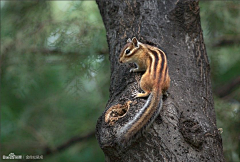
M 69 140 L 67 140 L 66 142 L 58 145 L 56 148 L 50 148 L 49 146 L 46 146 L 44 148 L 44 153 L 43 155 L 53 155 L 53 154 L 56 154 L 56 153 L 59 153 L 63 150 L 66 150 L 67 148 L 69 148 L 70 146 L 78 143 L 78 142 L 81 142 L 83 140 L 89 140 L 91 138 L 95 137 L 95 131 L 92 131 L 84 136 L 75 136 L 75 137 L 72 137 L 70 138 Z

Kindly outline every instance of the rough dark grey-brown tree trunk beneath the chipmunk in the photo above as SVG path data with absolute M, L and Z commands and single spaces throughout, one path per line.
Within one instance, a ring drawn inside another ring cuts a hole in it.
M 198 1 L 97 0 L 97 4 L 107 31 L 111 61 L 106 110 L 134 101 L 113 126 L 105 123 L 105 112 L 98 120 L 96 135 L 106 161 L 224 161 Z M 132 91 L 140 91 L 142 74 L 129 73 L 133 64 L 118 63 L 121 48 L 127 38 L 134 36 L 166 53 L 171 86 L 153 125 L 121 150 L 116 145 L 116 130 L 146 102 L 132 97 Z

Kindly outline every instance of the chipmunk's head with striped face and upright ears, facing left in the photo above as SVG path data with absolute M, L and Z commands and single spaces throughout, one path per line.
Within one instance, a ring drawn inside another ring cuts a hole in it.
M 137 40 L 137 38 L 133 37 L 131 40 L 130 38 L 127 40 L 127 44 L 122 48 L 119 62 L 120 63 L 127 63 L 127 62 L 134 62 L 135 58 L 140 55 L 142 43 Z

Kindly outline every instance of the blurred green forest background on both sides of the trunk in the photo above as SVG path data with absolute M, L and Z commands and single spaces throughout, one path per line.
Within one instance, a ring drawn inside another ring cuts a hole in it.
M 238 162 L 240 87 L 232 83 L 240 76 L 240 3 L 200 7 L 224 154 Z M 54 152 L 90 134 L 44 161 L 104 161 L 93 132 L 108 100 L 110 68 L 95 1 L 1 1 L 0 61 L 1 158 Z

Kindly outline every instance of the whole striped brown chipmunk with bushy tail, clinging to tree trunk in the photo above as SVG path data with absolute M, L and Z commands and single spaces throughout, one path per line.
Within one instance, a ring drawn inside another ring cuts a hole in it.
M 152 124 L 162 108 L 162 94 L 170 86 L 165 53 L 157 47 L 139 42 L 135 37 L 132 40 L 129 38 L 127 42 L 121 51 L 119 62 L 135 63 L 137 68 L 130 69 L 130 72 L 145 72 L 140 80 L 144 93 L 138 93 L 136 97 L 148 99 L 136 116 L 117 133 L 120 145 L 129 144 L 130 139 Z

